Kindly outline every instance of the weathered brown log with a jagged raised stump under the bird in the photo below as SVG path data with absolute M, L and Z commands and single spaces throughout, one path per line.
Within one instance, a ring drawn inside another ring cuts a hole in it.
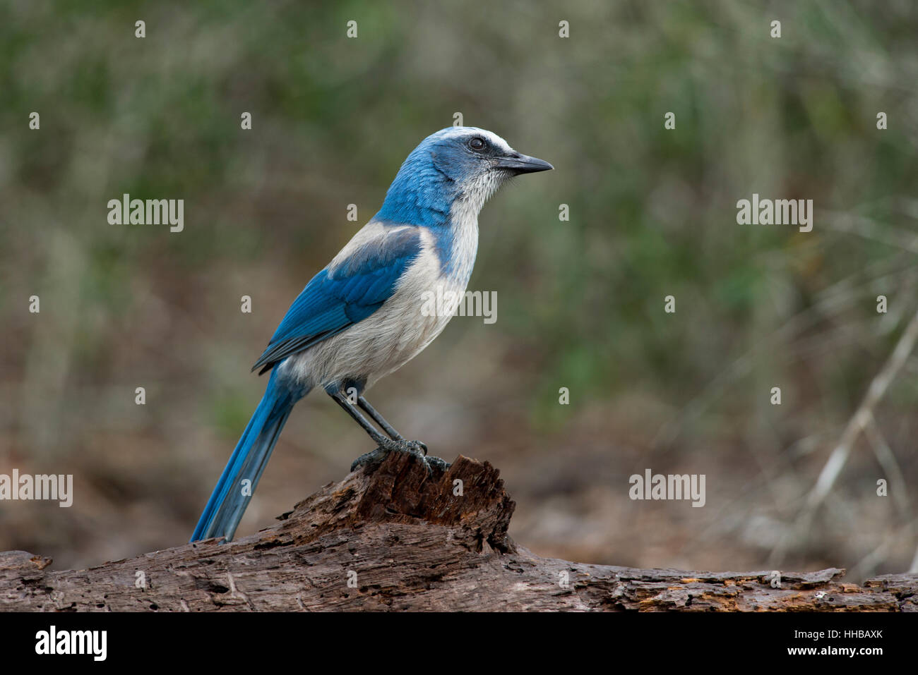
M 918 611 L 918 575 L 844 583 L 844 570 L 633 570 L 533 555 L 507 535 L 514 503 L 487 462 L 432 474 L 393 454 L 330 483 L 280 522 L 54 571 L 0 553 L 4 611 Z

